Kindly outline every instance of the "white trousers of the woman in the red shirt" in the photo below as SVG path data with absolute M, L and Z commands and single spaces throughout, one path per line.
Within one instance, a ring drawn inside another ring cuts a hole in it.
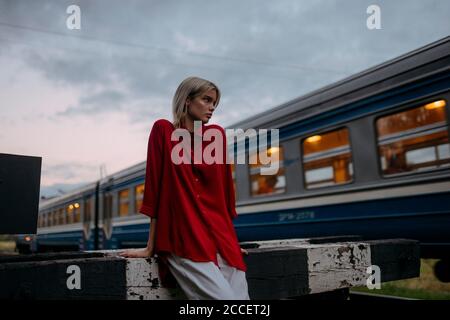
M 169 269 L 190 300 L 250 300 L 245 272 L 229 266 L 217 254 L 214 262 L 195 262 L 171 254 Z

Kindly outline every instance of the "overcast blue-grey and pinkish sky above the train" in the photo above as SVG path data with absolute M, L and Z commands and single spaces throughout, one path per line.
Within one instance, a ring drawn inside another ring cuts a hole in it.
M 43 158 L 41 194 L 91 182 L 145 160 L 188 76 L 221 88 L 211 123 L 226 127 L 448 36 L 449 13 L 448 0 L 0 0 L 0 152 Z

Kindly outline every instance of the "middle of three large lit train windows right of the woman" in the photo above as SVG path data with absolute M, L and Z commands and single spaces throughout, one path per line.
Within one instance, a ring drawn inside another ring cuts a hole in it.
M 302 144 L 305 188 L 334 186 L 353 180 L 347 128 L 310 136 Z

